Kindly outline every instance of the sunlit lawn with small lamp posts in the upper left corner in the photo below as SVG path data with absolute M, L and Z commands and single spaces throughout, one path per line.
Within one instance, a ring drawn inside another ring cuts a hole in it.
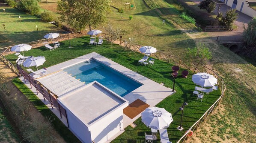
M 40 40 L 50 32 L 63 32 L 62 29 L 18 9 L 3 5 L 0 5 L 0 9 L 6 11 L 6 14 L 0 12 L 0 48 Z M 4 31 L 2 24 L 5 24 L 6 31 Z M 37 31 L 36 25 L 39 31 Z

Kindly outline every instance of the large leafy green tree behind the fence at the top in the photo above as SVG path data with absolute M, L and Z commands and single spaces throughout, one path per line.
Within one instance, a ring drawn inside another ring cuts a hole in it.
M 76 30 L 92 30 L 107 21 L 111 0 L 60 0 L 57 10 L 61 19 Z

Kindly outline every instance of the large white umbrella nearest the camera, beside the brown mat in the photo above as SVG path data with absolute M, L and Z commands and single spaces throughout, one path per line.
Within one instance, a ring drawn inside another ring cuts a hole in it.
M 164 108 L 151 107 L 145 109 L 141 113 L 142 122 L 152 129 L 164 129 L 170 126 L 173 122 L 172 114 L 167 112 Z

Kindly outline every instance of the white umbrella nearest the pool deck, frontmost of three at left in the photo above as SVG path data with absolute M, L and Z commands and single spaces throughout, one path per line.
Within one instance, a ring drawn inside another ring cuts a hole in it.
M 24 63 L 23 66 L 24 67 L 30 67 L 30 66 L 36 66 L 36 69 L 38 70 L 38 66 L 41 66 L 45 63 L 45 57 L 31 57 L 31 58 L 27 58 Z

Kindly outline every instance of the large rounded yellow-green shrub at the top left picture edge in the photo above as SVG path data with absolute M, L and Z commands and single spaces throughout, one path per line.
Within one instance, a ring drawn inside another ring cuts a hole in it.
M 37 0 L 21 0 L 18 3 L 17 7 L 18 7 L 18 9 L 25 11 L 32 15 L 39 12 L 39 8 L 40 8 Z

